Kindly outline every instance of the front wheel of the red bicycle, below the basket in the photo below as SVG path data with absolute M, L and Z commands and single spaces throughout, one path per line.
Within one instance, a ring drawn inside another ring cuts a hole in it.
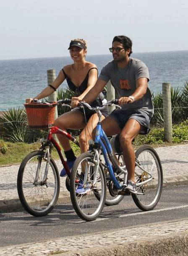
M 44 152 L 34 151 L 23 159 L 18 171 L 17 188 L 21 204 L 33 216 L 50 213 L 59 196 L 60 178 L 57 166 L 50 158 L 47 179 L 44 181 L 46 165 Z

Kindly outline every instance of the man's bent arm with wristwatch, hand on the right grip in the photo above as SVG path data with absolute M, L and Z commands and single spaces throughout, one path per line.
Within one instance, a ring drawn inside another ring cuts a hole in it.
M 140 100 L 144 96 L 144 94 L 146 94 L 147 86 L 148 86 L 148 79 L 146 77 L 141 77 L 136 80 L 136 90 L 131 95 L 134 97 L 134 101 Z M 118 103 L 120 105 L 132 103 L 132 102 L 133 100 L 131 100 L 131 98 L 128 98 L 128 97 L 121 97 L 118 100 Z

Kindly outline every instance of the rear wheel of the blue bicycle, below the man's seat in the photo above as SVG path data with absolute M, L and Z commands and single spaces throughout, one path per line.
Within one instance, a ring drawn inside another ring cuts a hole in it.
M 157 205 L 162 193 L 162 165 L 157 152 L 150 146 L 138 148 L 135 155 L 140 166 L 135 167 L 136 183 L 145 183 L 138 186 L 138 194 L 132 194 L 132 197 L 138 208 L 149 211 Z

